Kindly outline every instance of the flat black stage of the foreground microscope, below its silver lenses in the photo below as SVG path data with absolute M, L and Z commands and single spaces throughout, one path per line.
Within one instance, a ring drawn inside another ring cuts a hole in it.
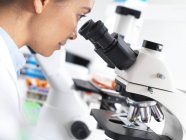
M 114 112 L 92 109 L 91 115 L 105 130 L 105 134 L 114 140 L 171 140 L 167 136 L 157 135 L 151 129 L 146 131 L 124 127 L 120 120 L 113 119 Z

